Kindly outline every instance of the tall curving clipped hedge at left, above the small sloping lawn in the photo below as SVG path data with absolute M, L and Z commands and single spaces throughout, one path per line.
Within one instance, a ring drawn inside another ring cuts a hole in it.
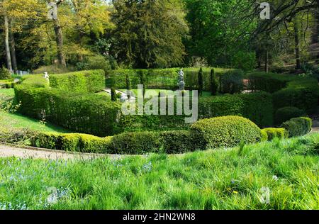
M 21 101 L 19 112 L 27 116 L 45 118 L 78 133 L 106 136 L 121 132 L 121 104 L 107 96 L 24 85 L 16 86 L 15 92 Z

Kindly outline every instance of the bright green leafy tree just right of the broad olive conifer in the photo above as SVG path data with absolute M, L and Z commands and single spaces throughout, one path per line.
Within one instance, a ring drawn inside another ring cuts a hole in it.
M 239 28 L 245 27 L 247 32 L 254 28 L 254 23 L 238 19 L 242 15 L 237 12 L 247 1 L 184 0 L 184 3 L 190 24 L 191 38 L 185 41 L 189 56 L 203 57 L 210 65 L 232 65 L 236 52 L 250 52 L 249 36 L 237 39 Z

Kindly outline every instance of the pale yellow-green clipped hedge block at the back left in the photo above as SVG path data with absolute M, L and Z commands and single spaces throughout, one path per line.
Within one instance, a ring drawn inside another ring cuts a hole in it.
M 103 70 L 89 70 L 51 74 L 50 86 L 66 91 L 95 93 L 105 89 L 105 72 Z

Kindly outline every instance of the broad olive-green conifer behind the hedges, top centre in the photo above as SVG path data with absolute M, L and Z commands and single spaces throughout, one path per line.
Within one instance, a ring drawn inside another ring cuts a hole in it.
M 180 0 L 113 0 L 112 52 L 135 68 L 181 65 L 188 27 Z

